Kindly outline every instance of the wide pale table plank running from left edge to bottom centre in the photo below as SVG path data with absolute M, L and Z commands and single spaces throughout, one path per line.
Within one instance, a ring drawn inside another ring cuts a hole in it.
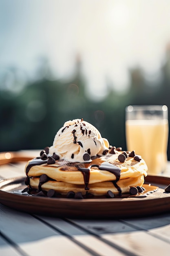
M 0 206 L 0 230 L 13 243 L 31 256 L 90 255 L 84 248 L 73 243 L 33 216 Z

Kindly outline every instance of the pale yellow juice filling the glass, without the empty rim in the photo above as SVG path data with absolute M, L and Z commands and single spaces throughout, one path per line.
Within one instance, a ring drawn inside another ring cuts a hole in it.
M 127 150 L 135 150 L 148 166 L 148 174 L 166 170 L 168 120 L 126 120 Z

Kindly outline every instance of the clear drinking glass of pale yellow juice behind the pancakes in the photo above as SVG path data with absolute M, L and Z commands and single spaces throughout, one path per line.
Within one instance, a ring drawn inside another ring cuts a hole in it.
M 166 171 L 168 108 L 166 105 L 126 107 L 126 146 L 145 160 L 148 174 Z

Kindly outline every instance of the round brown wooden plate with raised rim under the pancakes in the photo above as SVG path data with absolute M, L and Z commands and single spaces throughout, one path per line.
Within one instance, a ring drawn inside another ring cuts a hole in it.
M 149 216 L 170 211 L 170 193 L 164 191 L 170 178 L 147 176 L 145 183 L 159 186 L 147 197 L 128 198 L 46 198 L 18 195 L 25 188 L 24 177 L 0 181 L 0 203 L 27 213 L 69 218 L 129 218 Z

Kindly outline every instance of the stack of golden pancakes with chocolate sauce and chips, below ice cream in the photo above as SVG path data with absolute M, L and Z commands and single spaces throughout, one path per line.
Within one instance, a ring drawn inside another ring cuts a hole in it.
M 47 152 L 48 153 L 48 152 Z M 123 155 L 123 157 L 122 157 Z M 53 159 L 53 161 L 51 161 Z M 142 186 L 147 166 L 135 152 L 111 148 L 107 155 L 91 157 L 89 163 L 69 162 L 55 156 L 32 159 L 26 164 L 25 184 L 37 191 L 55 191 L 68 195 L 71 191 L 94 196 L 129 193 L 131 187 Z

